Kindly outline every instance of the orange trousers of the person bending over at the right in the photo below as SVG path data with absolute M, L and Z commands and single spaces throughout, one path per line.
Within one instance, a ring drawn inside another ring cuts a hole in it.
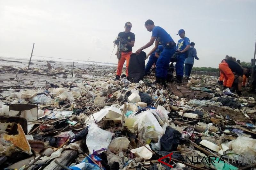
M 224 75 L 224 82 L 223 85 L 230 88 L 233 85 L 233 82 L 235 80 L 235 75 L 231 71 L 231 69 L 228 67 L 228 63 L 223 62 L 219 64 L 220 72 Z

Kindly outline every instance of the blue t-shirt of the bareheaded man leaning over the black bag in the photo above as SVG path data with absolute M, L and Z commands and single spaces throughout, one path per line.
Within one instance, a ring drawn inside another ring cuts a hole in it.
M 171 35 L 160 26 L 155 26 L 152 31 L 152 37 L 156 37 L 156 40 L 160 41 L 163 45 L 167 42 L 173 41 Z

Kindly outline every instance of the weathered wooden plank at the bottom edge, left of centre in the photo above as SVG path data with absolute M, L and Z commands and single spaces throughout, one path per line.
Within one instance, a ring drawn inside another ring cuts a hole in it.
M 74 159 L 76 159 L 78 152 L 76 150 L 65 150 L 61 153 L 59 158 L 55 158 L 47 165 L 44 170 L 61 170 L 62 167 L 54 162 L 58 160 L 61 164 L 69 166 Z

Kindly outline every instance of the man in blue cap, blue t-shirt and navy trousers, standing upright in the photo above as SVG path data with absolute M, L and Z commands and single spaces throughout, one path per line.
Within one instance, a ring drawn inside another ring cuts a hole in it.
M 187 51 L 190 48 L 190 42 L 188 37 L 185 36 L 185 31 L 183 29 L 180 29 L 177 35 L 180 35 L 181 39 L 177 44 L 177 51 L 179 51 L 180 54 L 177 56 L 176 62 L 176 79 L 177 83 L 181 83 L 183 78 L 184 61 L 187 57 Z

